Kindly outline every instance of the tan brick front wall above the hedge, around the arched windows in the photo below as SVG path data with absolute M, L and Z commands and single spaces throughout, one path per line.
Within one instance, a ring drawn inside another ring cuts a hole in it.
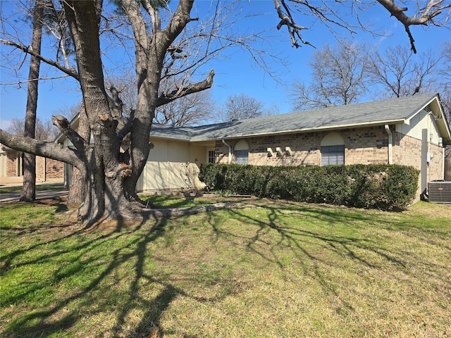
M 338 132 L 345 139 L 345 164 L 388 163 L 388 134 L 383 126 L 352 128 Z M 250 137 L 249 164 L 252 165 L 320 165 L 321 139 L 330 132 L 306 132 L 297 134 Z M 240 139 L 228 140 L 233 146 Z M 292 155 L 276 156 L 276 147 L 282 150 L 289 146 Z M 268 157 L 266 149 L 271 148 L 274 156 Z M 228 163 L 228 146 L 216 141 L 216 163 Z

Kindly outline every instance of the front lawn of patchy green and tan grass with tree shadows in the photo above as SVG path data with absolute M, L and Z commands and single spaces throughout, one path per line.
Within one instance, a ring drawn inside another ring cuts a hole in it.
M 104 232 L 2 204 L 0 337 L 450 337 L 450 205 L 233 201 Z

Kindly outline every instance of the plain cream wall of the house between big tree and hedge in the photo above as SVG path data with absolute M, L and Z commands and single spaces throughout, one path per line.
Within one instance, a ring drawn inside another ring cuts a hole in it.
M 205 186 L 198 178 L 198 165 L 206 162 L 205 146 L 164 139 L 151 142 L 154 149 L 137 182 L 137 191 L 190 191 Z

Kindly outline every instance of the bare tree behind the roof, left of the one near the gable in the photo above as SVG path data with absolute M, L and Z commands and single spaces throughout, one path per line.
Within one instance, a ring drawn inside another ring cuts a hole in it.
M 342 106 L 358 102 L 369 78 L 366 46 L 342 42 L 326 44 L 309 63 L 311 84 L 295 83 L 291 102 L 295 109 Z

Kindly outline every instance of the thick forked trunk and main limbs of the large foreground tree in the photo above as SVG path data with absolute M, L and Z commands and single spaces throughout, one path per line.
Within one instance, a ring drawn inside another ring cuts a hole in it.
M 14 149 L 39 154 L 73 164 L 85 180 L 85 199 L 78 216 L 85 225 L 103 220 L 144 220 L 159 215 L 175 215 L 172 211 L 152 211 L 145 209 L 135 192 L 138 178 L 147 163 L 150 128 L 157 106 L 166 104 L 180 96 L 199 92 L 211 87 L 214 72 L 206 80 L 174 93 L 166 93 L 159 98 L 161 70 L 168 48 L 189 23 L 194 0 L 180 0 L 170 23 L 161 30 L 157 8 L 147 6 L 149 1 L 123 0 L 125 11 L 135 34 L 136 72 L 138 101 L 129 121 L 121 115 L 122 104 L 114 88 L 106 93 L 101 63 L 99 25 L 101 0 L 63 1 L 68 27 L 73 37 L 77 57 L 78 74 L 82 89 L 83 104 L 91 130 L 92 142 L 87 134 L 80 136 L 70 126 L 68 120 L 54 116 L 52 121 L 66 134 L 73 147 L 68 149 L 56 144 L 42 144 L 26 139 L 24 142 L 0 130 L 0 139 Z M 152 17 L 152 34 L 142 17 L 142 8 Z M 121 154 L 120 146 L 126 134 L 130 134 L 130 148 Z M 66 149 L 68 153 L 62 152 Z M 199 209 L 180 211 L 192 213 Z

